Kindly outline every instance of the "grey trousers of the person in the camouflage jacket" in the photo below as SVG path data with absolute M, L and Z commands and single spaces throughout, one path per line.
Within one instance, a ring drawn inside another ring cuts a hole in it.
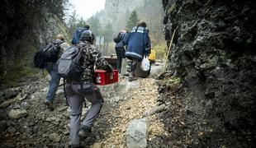
M 68 101 L 70 106 L 70 139 L 72 145 L 79 145 L 80 139 L 78 132 L 81 127 L 92 127 L 98 114 L 102 109 L 104 102 L 100 90 L 93 83 L 86 82 L 72 82 L 67 83 L 66 92 L 68 95 Z M 84 98 L 88 99 L 92 103 L 91 108 L 88 110 L 86 118 L 80 123 L 82 117 L 82 108 Z

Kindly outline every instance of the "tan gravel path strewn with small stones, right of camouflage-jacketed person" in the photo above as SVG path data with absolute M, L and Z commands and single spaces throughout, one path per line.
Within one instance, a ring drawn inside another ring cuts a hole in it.
M 107 97 L 101 117 L 94 127 L 102 136 L 94 144 L 95 147 L 125 147 L 128 123 L 133 119 L 142 118 L 146 111 L 157 105 L 158 91 L 153 78 L 132 82 L 122 79 L 120 84 L 113 86 L 111 94 L 113 95 Z M 164 125 L 154 115 L 149 119 L 150 141 L 154 139 L 154 136 L 164 133 Z M 99 130 L 101 127 L 103 128 Z

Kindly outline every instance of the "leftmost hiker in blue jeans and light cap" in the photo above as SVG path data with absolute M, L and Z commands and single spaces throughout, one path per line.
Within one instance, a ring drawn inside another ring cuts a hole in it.
M 59 55 L 58 55 L 58 58 L 59 58 L 61 53 L 63 53 L 65 49 L 69 48 L 69 44 L 64 42 L 63 35 L 57 35 L 55 42 L 58 42 L 60 44 Z M 47 109 L 50 109 L 52 111 L 52 110 L 54 110 L 52 104 L 54 102 L 55 93 L 56 93 L 56 90 L 58 89 L 59 80 L 60 80 L 60 77 L 58 74 L 58 66 L 56 64 L 56 61 L 55 62 L 46 62 L 45 69 L 50 74 L 51 79 L 50 79 L 50 86 L 49 86 L 48 94 L 46 95 L 44 104 L 46 105 Z

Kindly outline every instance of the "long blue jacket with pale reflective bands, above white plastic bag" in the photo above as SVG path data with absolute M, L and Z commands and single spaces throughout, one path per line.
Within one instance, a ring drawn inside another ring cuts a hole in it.
M 143 56 L 149 54 L 151 49 L 149 30 L 141 26 L 133 27 L 125 43 L 128 44 L 126 58 L 142 60 Z

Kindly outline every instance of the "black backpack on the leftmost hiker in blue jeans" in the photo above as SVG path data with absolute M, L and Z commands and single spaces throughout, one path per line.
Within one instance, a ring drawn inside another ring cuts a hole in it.
M 46 62 L 57 62 L 59 58 L 60 44 L 64 41 L 55 41 L 48 44 L 45 49 L 40 49 L 34 56 L 35 67 L 44 68 Z

